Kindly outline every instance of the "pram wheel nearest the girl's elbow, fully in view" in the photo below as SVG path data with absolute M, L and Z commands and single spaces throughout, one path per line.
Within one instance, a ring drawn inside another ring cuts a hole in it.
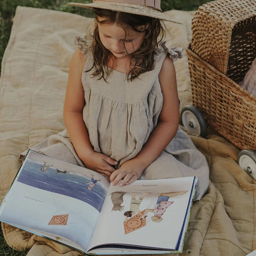
M 182 125 L 192 134 L 206 137 L 207 125 L 202 113 L 193 105 L 185 106 L 180 113 Z

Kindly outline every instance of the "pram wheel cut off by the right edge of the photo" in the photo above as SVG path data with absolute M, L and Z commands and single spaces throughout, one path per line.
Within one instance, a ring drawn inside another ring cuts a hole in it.
M 238 154 L 239 166 L 256 180 L 256 153 L 253 150 L 241 150 Z

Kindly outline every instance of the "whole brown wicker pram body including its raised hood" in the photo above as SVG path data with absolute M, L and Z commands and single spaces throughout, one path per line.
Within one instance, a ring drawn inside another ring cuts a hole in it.
M 256 98 L 239 86 L 256 57 L 256 1 L 201 6 L 186 53 L 193 105 L 242 150 L 256 150 Z

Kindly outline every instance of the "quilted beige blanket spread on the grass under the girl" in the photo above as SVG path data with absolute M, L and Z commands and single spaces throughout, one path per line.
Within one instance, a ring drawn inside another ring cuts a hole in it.
M 168 45 L 191 40 L 193 13 L 172 10 L 183 25 L 166 23 Z M 18 7 L 0 80 L 0 199 L 20 166 L 18 155 L 64 129 L 62 108 L 75 34 L 92 19 L 44 9 Z M 191 104 L 186 56 L 175 63 L 182 107 Z M 246 255 L 256 249 L 256 183 L 236 163 L 238 148 L 211 132 L 192 137 L 209 161 L 209 191 L 194 202 L 183 255 Z M 4 237 L 28 255 L 79 255 L 78 252 L 2 223 Z

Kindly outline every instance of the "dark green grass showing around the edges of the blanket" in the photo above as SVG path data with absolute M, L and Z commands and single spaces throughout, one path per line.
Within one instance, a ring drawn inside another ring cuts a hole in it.
M 27 6 L 51 10 L 61 10 L 63 12 L 71 12 L 86 17 L 92 17 L 92 11 L 78 7 L 69 6 L 68 0 L 0 0 L 0 70 L 2 56 L 6 49 L 10 30 L 12 27 L 12 18 L 15 15 L 17 6 Z M 92 2 L 90 0 L 74 0 L 73 2 Z M 196 10 L 202 4 L 209 2 L 209 0 L 162 0 L 162 10 Z M 10 248 L 2 235 L 0 228 L 0 256 L 25 256 L 26 252 L 17 252 Z

